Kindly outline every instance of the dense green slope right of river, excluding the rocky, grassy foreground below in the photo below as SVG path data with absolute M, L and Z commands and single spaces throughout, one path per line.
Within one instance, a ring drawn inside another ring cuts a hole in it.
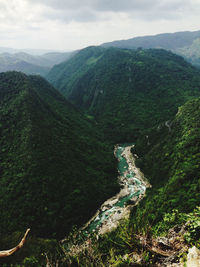
M 200 203 L 200 98 L 180 107 L 174 120 L 138 140 L 138 165 L 153 185 L 140 212 L 151 224 L 177 209 L 190 212 Z

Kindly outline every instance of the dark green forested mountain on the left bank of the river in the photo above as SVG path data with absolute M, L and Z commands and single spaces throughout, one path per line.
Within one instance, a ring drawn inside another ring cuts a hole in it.
M 0 74 L 0 234 L 62 237 L 116 192 L 113 148 L 48 82 Z

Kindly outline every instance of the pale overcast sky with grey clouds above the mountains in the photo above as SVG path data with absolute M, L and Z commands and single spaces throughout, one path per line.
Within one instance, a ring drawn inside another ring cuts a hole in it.
M 0 0 L 0 46 L 74 50 L 200 30 L 200 0 Z

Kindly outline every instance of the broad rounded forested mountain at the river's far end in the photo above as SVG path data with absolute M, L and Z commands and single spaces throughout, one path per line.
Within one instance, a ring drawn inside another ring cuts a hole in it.
M 161 49 L 88 47 L 47 79 L 114 143 L 135 140 L 200 95 L 200 71 Z

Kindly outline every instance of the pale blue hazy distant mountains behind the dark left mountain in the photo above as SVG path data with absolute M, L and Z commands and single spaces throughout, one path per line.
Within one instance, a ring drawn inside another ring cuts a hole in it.
M 26 74 L 45 76 L 55 64 L 68 60 L 75 52 L 51 52 L 44 55 L 30 55 L 24 52 L 0 54 L 0 72 L 22 71 Z

